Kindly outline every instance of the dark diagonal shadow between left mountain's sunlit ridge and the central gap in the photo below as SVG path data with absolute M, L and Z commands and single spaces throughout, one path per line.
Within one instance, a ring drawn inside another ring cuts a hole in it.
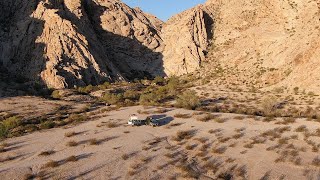
M 106 73 L 111 75 L 111 81 L 119 80 L 119 77 L 130 81 L 165 75 L 161 53 L 154 52 L 135 38 L 124 37 L 103 29 L 101 16 L 108 11 L 107 7 L 98 5 L 92 0 L 82 0 L 83 16 L 80 18 L 63 3 L 57 9 L 60 17 L 70 21 L 77 33 L 84 35 L 88 40 L 89 51 L 99 66 L 105 67 Z M 150 66 L 153 68 L 148 68 Z M 85 73 L 82 75 L 86 76 Z M 103 81 L 89 79 L 85 85 L 101 83 Z

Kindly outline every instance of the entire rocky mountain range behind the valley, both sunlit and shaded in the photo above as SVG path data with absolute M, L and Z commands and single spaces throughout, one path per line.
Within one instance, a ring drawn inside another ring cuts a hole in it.
M 0 69 L 66 88 L 200 70 L 216 83 L 320 89 L 316 0 L 208 0 L 167 22 L 120 0 L 0 2 Z

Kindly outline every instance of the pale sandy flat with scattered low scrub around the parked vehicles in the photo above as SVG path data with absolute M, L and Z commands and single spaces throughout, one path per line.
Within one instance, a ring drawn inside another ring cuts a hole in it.
M 99 111 L 99 109 L 97 110 Z M 127 125 L 130 114 L 160 127 Z M 3 142 L 1 179 L 317 179 L 319 122 L 123 107 Z

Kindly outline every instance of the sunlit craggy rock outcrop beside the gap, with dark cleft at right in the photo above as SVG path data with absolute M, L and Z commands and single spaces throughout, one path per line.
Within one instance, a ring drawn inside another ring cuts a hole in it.
M 212 38 L 213 15 L 199 5 L 172 17 L 162 29 L 167 75 L 182 75 L 199 69 Z

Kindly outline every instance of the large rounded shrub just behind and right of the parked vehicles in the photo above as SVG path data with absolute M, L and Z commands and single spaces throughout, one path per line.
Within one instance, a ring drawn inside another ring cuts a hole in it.
M 200 106 L 200 99 L 195 91 L 185 91 L 178 96 L 176 106 L 194 110 Z

